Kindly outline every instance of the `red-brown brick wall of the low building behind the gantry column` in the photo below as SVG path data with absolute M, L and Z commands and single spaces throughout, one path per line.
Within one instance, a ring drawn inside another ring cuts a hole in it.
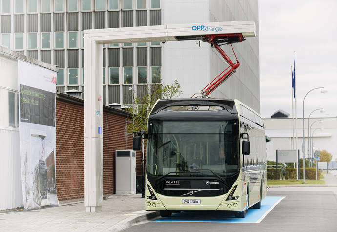
M 115 151 L 132 149 L 126 133 L 127 113 L 103 106 L 103 194 L 115 192 Z M 84 100 L 63 93 L 56 97 L 56 189 L 59 201 L 84 198 Z M 141 175 L 141 152 L 136 152 Z

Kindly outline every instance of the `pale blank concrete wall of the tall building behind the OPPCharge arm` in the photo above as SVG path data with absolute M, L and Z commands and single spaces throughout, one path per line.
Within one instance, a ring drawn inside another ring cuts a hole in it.
M 253 20 L 256 38 L 234 44 L 240 67 L 210 96 L 238 99 L 260 112 L 259 24 L 257 0 L 165 0 L 163 24 L 198 23 L 216 21 Z M 235 57 L 229 46 L 222 46 L 233 62 Z M 195 41 L 167 42 L 163 46 L 163 80 L 171 84 L 175 79 L 182 87 L 181 97 L 189 98 L 201 92 L 228 64 L 208 43 Z

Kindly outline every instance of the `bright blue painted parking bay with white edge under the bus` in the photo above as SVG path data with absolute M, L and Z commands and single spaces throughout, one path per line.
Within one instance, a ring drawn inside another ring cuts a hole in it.
M 190 211 L 175 213 L 171 217 L 163 217 L 155 222 L 234 222 L 260 223 L 272 209 L 281 202 L 283 196 L 267 196 L 260 209 L 248 209 L 245 218 L 236 218 L 232 212 Z

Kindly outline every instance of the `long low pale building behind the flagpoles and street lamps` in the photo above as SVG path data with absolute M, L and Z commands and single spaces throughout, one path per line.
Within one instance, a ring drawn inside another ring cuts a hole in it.
M 316 150 L 327 150 L 333 155 L 332 160 L 337 158 L 336 141 L 337 141 L 337 118 L 310 118 L 310 125 L 317 121 L 323 120 L 320 124 L 316 122 L 311 127 L 313 135 L 313 143 Z M 276 161 L 276 149 L 289 150 L 293 146 L 293 132 L 292 132 L 292 119 L 291 118 L 269 118 L 263 119 L 266 135 L 271 138 L 271 142 L 266 144 L 267 147 L 267 160 Z M 295 120 L 294 120 L 295 125 Z M 294 126 L 295 127 L 295 126 Z M 323 130 L 319 130 L 323 128 Z M 308 157 L 308 118 L 305 118 L 305 153 Z M 294 132 L 295 133 L 295 132 Z M 303 121 L 301 118 L 297 119 L 297 149 L 300 150 L 300 157 L 303 157 L 302 144 L 303 144 Z M 296 138 L 295 138 L 296 140 Z M 296 142 L 294 143 L 296 147 Z

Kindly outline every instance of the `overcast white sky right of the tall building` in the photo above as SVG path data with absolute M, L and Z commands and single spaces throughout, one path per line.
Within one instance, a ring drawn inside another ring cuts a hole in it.
M 337 0 L 259 0 L 261 115 L 290 114 L 291 65 L 296 51 L 297 116 L 337 115 Z M 295 107 L 295 106 L 294 106 Z M 295 114 L 295 112 L 294 112 Z

